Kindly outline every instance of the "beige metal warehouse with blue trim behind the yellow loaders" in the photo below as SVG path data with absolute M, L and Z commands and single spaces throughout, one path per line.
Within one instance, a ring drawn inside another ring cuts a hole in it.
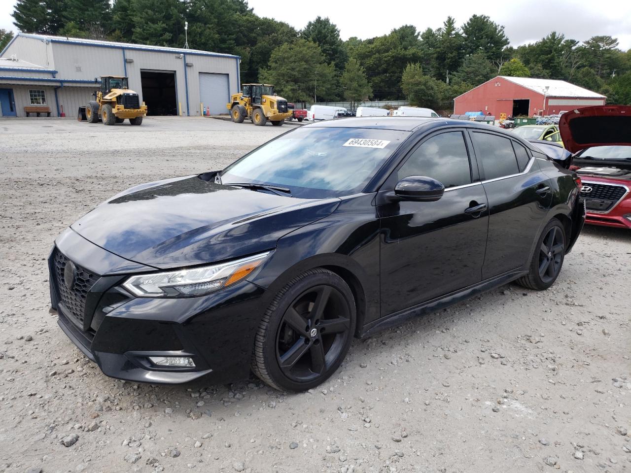
M 75 118 L 93 100 L 100 76 L 128 76 L 148 115 L 227 113 L 240 90 L 240 57 L 230 54 L 18 33 L 0 53 L 0 110 L 25 117 L 47 105 L 51 116 Z

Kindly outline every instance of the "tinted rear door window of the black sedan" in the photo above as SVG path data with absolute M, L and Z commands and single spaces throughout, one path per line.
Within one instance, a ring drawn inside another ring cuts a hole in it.
M 471 133 L 473 148 L 484 169 L 485 180 L 519 173 L 510 139 L 490 133 Z

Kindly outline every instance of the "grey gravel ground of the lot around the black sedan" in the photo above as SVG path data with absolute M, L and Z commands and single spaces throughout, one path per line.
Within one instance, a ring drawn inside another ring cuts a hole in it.
M 586 228 L 548 291 L 504 286 L 355 341 L 304 394 L 121 382 L 73 346 L 48 313 L 54 238 L 288 128 L 0 120 L 0 472 L 630 472 L 628 231 Z

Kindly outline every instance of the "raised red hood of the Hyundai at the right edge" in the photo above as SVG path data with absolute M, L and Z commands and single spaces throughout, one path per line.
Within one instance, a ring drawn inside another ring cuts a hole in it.
M 631 106 L 575 108 L 561 115 L 558 128 L 563 145 L 572 153 L 592 146 L 631 146 Z

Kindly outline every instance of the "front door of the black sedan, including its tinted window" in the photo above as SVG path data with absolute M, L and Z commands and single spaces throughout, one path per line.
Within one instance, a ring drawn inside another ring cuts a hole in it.
M 377 207 L 382 316 L 481 281 L 487 197 L 469 146 L 462 129 L 423 138 L 384 184 L 393 189 L 398 180 L 421 175 L 442 182 L 445 193 L 435 202 Z

